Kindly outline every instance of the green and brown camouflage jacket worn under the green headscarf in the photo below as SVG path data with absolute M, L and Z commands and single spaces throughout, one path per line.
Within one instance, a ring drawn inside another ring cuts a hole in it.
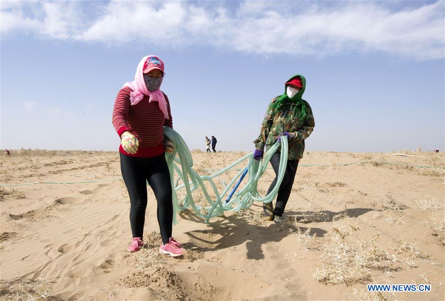
M 274 97 L 269 106 L 278 99 L 279 96 Z M 300 108 L 291 101 L 284 102 L 278 110 L 267 110 L 264 120 L 261 124 L 261 132 L 258 138 L 254 141 L 255 147 L 259 150 L 264 150 L 267 147 L 275 144 L 278 136 L 282 132 L 289 132 L 289 152 L 288 160 L 295 160 L 303 158 L 305 151 L 305 139 L 311 135 L 315 126 L 312 109 L 306 100 L 304 103 L 309 108 L 308 117 L 306 120 L 300 120 L 298 113 Z M 278 151 L 281 150 L 281 145 Z

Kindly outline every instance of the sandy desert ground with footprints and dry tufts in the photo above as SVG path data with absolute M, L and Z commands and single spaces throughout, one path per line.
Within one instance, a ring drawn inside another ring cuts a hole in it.
M 206 174 L 242 155 L 195 151 L 194 168 Z M 418 155 L 431 158 L 312 152 L 284 223 L 262 222 L 257 204 L 210 224 L 181 212 L 179 259 L 158 253 L 149 187 L 146 245 L 132 254 L 121 180 L 1 187 L 0 299 L 444 300 L 444 153 Z M 120 177 L 116 152 L 13 151 L 0 167 L 2 184 Z M 431 292 L 368 293 L 372 283 Z

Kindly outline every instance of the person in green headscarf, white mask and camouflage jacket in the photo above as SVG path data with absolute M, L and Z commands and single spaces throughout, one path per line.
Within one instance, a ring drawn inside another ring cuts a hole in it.
M 315 126 L 312 109 L 306 100 L 302 99 L 306 88 L 306 79 L 297 74 L 284 84 L 284 93 L 274 97 L 267 107 L 266 115 L 261 124 L 261 132 L 255 143 L 255 160 L 260 160 L 264 155 L 264 148 L 271 147 L 275 142 L 281 142 L 282 136 L 287 136 L 289 145 L 286 172 L 278 190 L 275 209 L 272 202 L 263 205 L 264 220 L 273 220 L 280 223 L 282 215 L 289 199 L 298 162 L 303 158 L 305 151 L 305 139 L 311 135 Z M 281 145 L 272 155 L 270 164 L 276 176 L 270 184 L 267 194 L 276 185 L 278 168 L 280 165 Z

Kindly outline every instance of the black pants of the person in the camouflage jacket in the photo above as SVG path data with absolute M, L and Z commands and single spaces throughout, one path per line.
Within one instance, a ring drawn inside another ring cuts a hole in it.
M 278 168 L 280 166 L 280 155 L 279 152 L 276 152 L 270 159 L 270 164 L 275 172 L 275 178 L 273 179 L 272 184 L 270 184 L 267 194 L 269 194 L 276 185 Z M 281 182 L 278 196 L 276 197 L 275 209 L 273 210 L 274 215 L 281 216 L 284 213 L 284 208 L 289 200 L 292 185 L 294 184 L 295 174 L 297 173 L 298 161 L 298 159 L 287 161 L 286 172 L 284 173 L 283 181 Z

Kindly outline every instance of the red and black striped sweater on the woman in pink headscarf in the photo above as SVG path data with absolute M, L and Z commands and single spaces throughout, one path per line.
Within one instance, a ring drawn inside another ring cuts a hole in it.
M 162 155 L 165 151 L 164 126 L 173 129 L 170 102 L 167 95 L 164 94 L 169 119 L 165 119 L 158 102 L 148 102 L 148 96 L 146 95 L 138 104 L 130 105 L 130 92 L 132 92 L 132 89 L 129 87 L 119 90 L 114 102 L 112 121 L 119 137 L 127 130 L 136 136 L 139 140 L 139 149 L 136 154 L 132 155 L 127 153 L 121 145 L 119 151 L 124 155 L 140 158 Z

